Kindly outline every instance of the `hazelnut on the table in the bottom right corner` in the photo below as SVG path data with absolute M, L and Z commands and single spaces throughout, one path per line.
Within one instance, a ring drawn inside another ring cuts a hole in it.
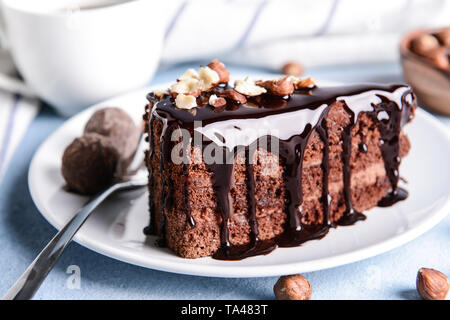
M 440 271 L 420 268 L 416 278 L 417 292 L 425 300 L 445 300 L 449 290 L 448 279 Z

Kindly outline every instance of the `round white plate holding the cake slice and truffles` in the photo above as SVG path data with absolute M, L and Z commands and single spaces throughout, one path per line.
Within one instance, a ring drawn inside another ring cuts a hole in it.
M 167 87 L 162 85 L 161 87 Z M 142 117 L 150 89 L 95 105 L 69 119 L 36 152 L 29 188 L 42 215 L 60 229 L 88 200 L 64 190 L 60 162 L 65 147 L 82 133 L 98 108 L 119 106 L 136 121 Z M 322 240 L 297 248 L 278 248 L 266 256 L 241 261 L 183 259 L 154 245 L 142 232 L 148 223 L 147 193 L 119 194 L 86 221 L 75 241 L 94 251 L 132 264 L 200 276 L 260 277 L 308 272 L 362 260 L 398 247 L 436 225 L 450 211 L 450 137 L 447 129 L 423 110 L 407 126 L 412 149 L 401 174 L 409 198 L 393 207 L 366 212 L 367 220 L 330 230 Z

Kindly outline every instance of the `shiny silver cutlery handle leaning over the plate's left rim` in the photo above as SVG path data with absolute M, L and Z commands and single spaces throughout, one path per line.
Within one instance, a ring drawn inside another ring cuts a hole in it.
M 3 300 L 28 300 L 31 299 L 55 265 L 64 249 L 72 240 L 89 215 L 109 195 L 118 189 L 113 185 L 97 194 L 88 204 L 62 228 L 47 246 L 41 251 L 27 270 L 20 276 L 16 283 L 8 290 Z

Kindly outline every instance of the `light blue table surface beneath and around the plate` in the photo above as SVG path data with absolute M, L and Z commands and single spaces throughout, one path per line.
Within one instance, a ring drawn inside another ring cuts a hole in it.
M 173 81 L 192 65 L 161 69 L 152 84 Z M 236 73 L 265 70 L 230 67 Z M 341 82 L 403 81 L 398 64 L 321 67 L 307 70 L 316 79 Z M 450 118 L 440 117 L 450 128 Z M 64 118 L 43 107 L 15 152 L 0 185 L 0 295 L 16 281 L 55 234 L 28 191 L 28 166 L 34 152 Z M 384 254 L 332 269 L 304 274 L 313 299 L 418 299 L 420 267 L 450 275 L 450 216 L 415 240 Z M 67 285 L 67 268 L 81 271 L 80 288 Z M 51 271 L 36 299 L 274 299 L 277 277 L 210 278 L 155 271 L 120 262 L 73 242 Z

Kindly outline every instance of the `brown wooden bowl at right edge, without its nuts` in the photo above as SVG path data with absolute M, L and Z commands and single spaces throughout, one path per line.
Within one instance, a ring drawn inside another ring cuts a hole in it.
M 423 34 L 439 30 L 415 30 L 400 42 L 403 75 L 419 99 L 433 111 L 450 116 L 450 70 L 442 69 L 410 49 L 411 41 Z

